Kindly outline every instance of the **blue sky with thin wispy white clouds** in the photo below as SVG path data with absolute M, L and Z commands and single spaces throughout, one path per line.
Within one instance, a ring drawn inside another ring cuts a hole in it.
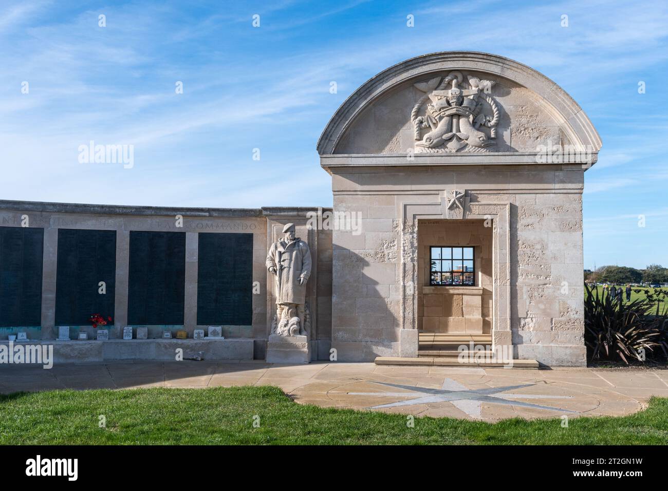
M 601 134 L 585 174 L 585 267 L 668 266 L 666 3 L 0 5 L 1 198 L 331 206 L 315 144 L 351 92 L 415 55 L 487 51 L 556 81 Z M 79 164 L 90 140 L 134 145 L 134 167 Z

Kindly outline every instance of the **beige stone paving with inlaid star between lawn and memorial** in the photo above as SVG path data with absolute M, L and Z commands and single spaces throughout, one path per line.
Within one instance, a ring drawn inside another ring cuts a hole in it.
M 379 367 L 373 363 L 279 365 L 264 361 L 112 362 L 8 365 L 0 392 L 133 387 L 276 385 L 321 407 L 415 416 L 506 418 L 623 416 L 651 395 L 668 397 L 668 370 Z

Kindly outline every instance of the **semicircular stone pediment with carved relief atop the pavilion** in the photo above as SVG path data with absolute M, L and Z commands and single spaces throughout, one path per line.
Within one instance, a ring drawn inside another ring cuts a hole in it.
M 408 59 L 358 88 L 323 131 L 318 153 L 536 152 L 594 154 L 601 138 L 554 81 L 517 61 L 474 51 Z

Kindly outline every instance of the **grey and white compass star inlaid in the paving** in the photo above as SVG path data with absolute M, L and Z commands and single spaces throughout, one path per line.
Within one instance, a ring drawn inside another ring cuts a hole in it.
M 449 402 L 458 410 L 463 411 L 472 418 L 480 418 L 482 415 L 482 403 L 514 405 L 516 407 L 531 407 L 533 409 L 556 411 L 564 413 L 576 413 L 576 411 L 564 410 L 559 407 L 538 405 L 513 399 L 570 399 L 568 395 L 536 395 L 519 393 L 502 393 L 513 389 L 532 387 L 535 383 L 524 383 L 522 385 L 507 385 L 506 387 L 486 387 L 484 389 L 467 389 L 456 380 L 446 378 L 441 389 L 430 389 L 428 387 L 413 387 L 411 385 L 399 385 L 396 383 L 373 382 L 387 387 L 403 389 L 407 392 L 349 392 L 349 395 L 377 395 L 379 397 L 411 397 L 411 399 L 391 402 L 388 404 L 374 405 L 369 409 L 381 409 L 383 407 L 397 407 L 405 405 L 425 404 L 434 402 Z M 412 393 L 411 393 L 412 392 Z M 422 395 L 418 395 L 418 394 Z

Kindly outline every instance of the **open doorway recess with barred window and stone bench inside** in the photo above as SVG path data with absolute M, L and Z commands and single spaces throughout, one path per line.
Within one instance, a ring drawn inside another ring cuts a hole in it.
M 420 333 L 490 337 L 492 231 L 491 219 L 418 220 Z

